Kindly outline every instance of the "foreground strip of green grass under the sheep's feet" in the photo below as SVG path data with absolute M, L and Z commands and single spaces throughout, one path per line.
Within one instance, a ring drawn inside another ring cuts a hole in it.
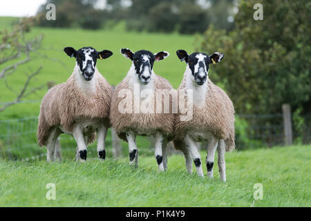
M 0 161 L 1 206 L 311 206 L 310 148 L 288 146 L 227 153 L 227 182 L 189 175 L 182 155 L 158 173 L 154 157 L 84 164 Z M 206 153 L 202 153 L 204 158 Z M 205 174 L 206 168 L 203 167 Z M 56 200 L 46 200 L 46 184 Z M 253 186 L 263 184 L 263 200 Z

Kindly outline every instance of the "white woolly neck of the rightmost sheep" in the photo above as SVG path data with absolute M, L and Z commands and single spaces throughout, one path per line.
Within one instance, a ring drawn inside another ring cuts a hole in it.
M 203 106 L 205 106 L 205 98 L 206 98 L 207 89 L 208 89 L 208 85 L 207 85 L 208 79 L 207 81 L 205 81 L 205 84 L 201 86 L 196 84 L 196 81 L 194 81 L 194 76 L 192 75 L 191 70 L 188 65 L 187 65 L 184 77 L 185 77 L 185 88 L 187 90 L 190 89 L 193 92 L 194 106 L 196 106 L 197 108 L 202 108 Z

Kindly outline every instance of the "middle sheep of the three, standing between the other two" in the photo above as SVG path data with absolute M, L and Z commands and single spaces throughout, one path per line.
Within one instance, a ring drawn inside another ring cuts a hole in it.
M 176 90 L 173 89 L 167 79 L 153 72 L 153 62 L 165 59 L 169 56 L 169 52 L 162 51 L 153 55 L 148 50 L 138 50 L 133 53 L 128 48 L 122 48 L 120 52 L 133 63 L 126 77 L 113 92 L 111 124 L 118 137 L 129 143 L 129 161 L 135 166 L 138 166 L 136 135 L 153 135 L 158 168 L 160 171 L 166 171 L 166 146 L 173 132 L 174 115 L 171 111 L 171 103 L 169 110 L 162 113 L 162 106 L 165 101 L 158 101 L 155 93 L 158 97 L 164 91 L 164 96 L 166 96 L 169 93 L 176 92 Z M 146 109 L 143 107 L 144 104 L 146 104 Z M 124 108 L 124 106 L 126 107 Z

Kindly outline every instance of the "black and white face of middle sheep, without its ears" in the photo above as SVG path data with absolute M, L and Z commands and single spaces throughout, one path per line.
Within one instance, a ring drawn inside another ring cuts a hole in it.
M 133 55 L 135 74 L 143 84 L 148 84 L 150 82 L 151 70 L 155 60 L 155 56 L 149 50 L 138 50 L 138 52 L 135 52 Z

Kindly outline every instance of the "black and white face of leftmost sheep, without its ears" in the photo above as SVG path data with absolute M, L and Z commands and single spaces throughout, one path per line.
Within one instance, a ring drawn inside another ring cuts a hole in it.
M 91 47 L 77 50 L 77 66 L 86 81 L 91 81 L 95 73 L 98 52 Z

